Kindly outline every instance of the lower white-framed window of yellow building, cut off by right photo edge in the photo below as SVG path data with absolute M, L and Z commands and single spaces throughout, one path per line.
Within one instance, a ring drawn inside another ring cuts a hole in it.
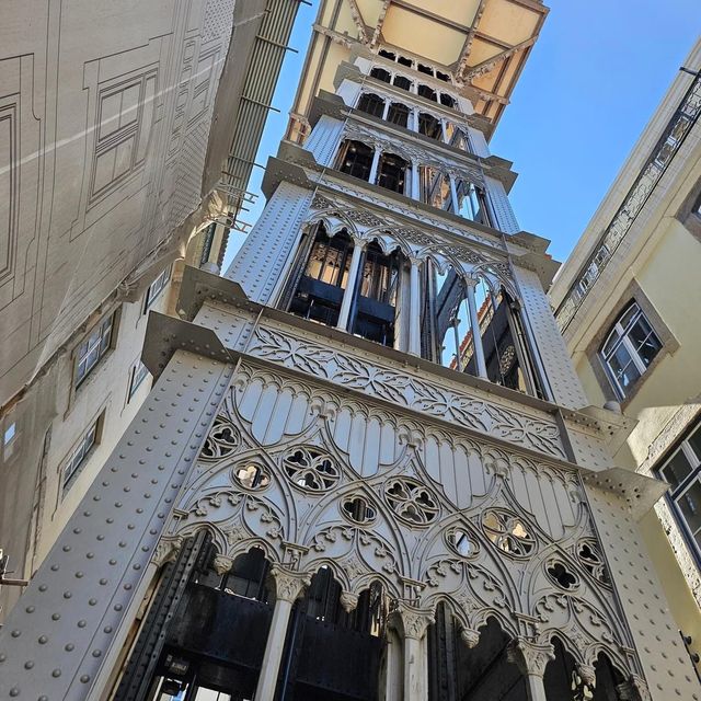
M 657 470 L 669 484 L 668 499 L 679 526 L 701 559 L 701 424 Z

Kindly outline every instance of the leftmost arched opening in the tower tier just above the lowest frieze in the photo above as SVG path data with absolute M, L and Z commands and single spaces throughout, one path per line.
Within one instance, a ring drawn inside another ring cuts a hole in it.
M 348 278 L 353 242 L 346 233 L 333 238 L 319 227 L 302 274 L 296 281 L 289 311 L 327 325 L 338 322 L 338 312 Z

